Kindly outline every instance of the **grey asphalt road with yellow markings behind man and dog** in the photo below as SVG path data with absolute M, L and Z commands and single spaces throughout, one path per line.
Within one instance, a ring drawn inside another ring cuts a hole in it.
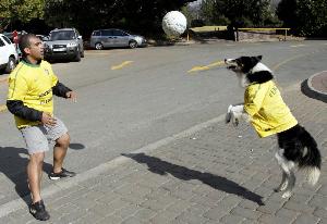
M 241 102 L 243 90 L 237 78 L 216 65 L 225 58 L 262 54 L 282 90 L 326 70 L 326 51 L 324 40 L 216 42 L 87 51 L 80 63 L 56 63 L 60 80 L 78 94 L 77 103 L 56 99 L 56 115 L 72 137 L 65 167 L 83 173 L 217 117 L 230 103 Z M 192 69 L 195 72 L 189 72 Z M 5 82 L 1 82 L 0 104 L 5 94 Z M 8 111 L 0 112 L 0 127 L 2 204 L 26 192 L 27 155 Z M 48 170 L 51 155 L 48 152 L 45 161 Z M 50 184 L 45 177 L 44 186 Z

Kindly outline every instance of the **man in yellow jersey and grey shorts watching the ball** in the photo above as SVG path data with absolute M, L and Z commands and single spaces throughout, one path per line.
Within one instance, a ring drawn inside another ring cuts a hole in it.
M 51 65 L 44 61 L 44 43 L 33 34 L 23 35 L 19 42 L 23 59 L 9 77 L 7 107 L 25 140 L 29 162 L 28 187 L 32 195 L 29 212 L 35 219 L 46 221 L 50 215 L 40 197 L 40 182 L 48 140 L 55 141 L 53 170 L 50 179 L 72 177 L 74 172 L 62 167 L 70 144 L 65 125 L 53 116 L 52 94 L 76 101 L 76 94 L 59 83 Z

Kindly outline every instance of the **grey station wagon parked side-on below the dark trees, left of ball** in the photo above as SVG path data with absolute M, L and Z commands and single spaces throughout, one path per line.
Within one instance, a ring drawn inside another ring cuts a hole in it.
M 132 35 L 122 29 L 97 29 L 92 33 L 89 45 L 97 50 L 113 47 L 136 48 L 146 46 L 146 39 L 143 36 Z

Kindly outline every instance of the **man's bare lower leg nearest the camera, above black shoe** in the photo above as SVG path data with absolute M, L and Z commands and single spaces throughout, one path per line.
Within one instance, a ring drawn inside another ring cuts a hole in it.
M 33 203 L 41 200 L 40 182 L 43 175 L 44 159 L 45 152 L 29 154 L 29 162 L 27 165 L 27 178 Z

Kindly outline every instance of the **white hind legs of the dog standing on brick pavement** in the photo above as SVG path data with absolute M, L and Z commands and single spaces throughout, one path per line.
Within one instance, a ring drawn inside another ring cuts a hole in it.
M 282 198 L 289 198 L 292 195 L 292 189 L 295 185 L 295 175 L 293 172 L 294 163 L 292 161 L 288 161 L 283 157 L 283 149 L 279 149 L 276 152 L 275 157 L 277 159 L 278 164 L 282 170 L 282 178 L 280 185 L 275 189 L 275 191 L 286 190 L 282 194 Z

